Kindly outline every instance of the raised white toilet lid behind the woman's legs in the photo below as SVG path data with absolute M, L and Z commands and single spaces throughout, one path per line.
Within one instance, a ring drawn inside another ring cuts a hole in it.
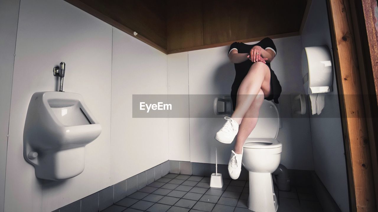
M 276 138 L 279 129 L 279 113 L 272 101 L 264 100 L 256 127 L 248 138 Z

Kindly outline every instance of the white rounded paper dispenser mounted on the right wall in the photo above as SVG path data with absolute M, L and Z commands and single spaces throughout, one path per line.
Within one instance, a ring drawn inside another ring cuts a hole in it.
M 327 46 L 303 49 L 302 76 L 306 94 L 332 92 L 332 57 Z

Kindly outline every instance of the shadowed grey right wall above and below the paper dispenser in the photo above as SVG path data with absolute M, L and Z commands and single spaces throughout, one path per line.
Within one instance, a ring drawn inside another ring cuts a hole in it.
M 325 0 L 312 1 L 302 32 L 302 45 L 327 45 L 332 51 L 327 5 Z M 349 211 L 347 172 L 342 139 L 339 101 L 335 73 L 333 92 L 325 95 L 320 115 L 311 115 L 311 139 L 314 171 L 343 212 Z M 310 105 L 310 104 L 309 104 Z

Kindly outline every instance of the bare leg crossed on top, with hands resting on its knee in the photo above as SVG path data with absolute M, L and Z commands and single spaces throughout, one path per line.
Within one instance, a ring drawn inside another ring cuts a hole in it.
M 238 124 L 242 122 L 260 90 L 265 96 L 270 94 L 270 69 L 265 63 L 256 62 L 249 69 L 237 92 L 236 108 L 231 118 Z

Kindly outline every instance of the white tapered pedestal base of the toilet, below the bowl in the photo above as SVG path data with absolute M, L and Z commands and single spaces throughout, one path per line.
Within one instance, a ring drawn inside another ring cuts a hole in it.
M 271 173 L 249 172 L 248 209 L 254 212 L 277 211 Z

